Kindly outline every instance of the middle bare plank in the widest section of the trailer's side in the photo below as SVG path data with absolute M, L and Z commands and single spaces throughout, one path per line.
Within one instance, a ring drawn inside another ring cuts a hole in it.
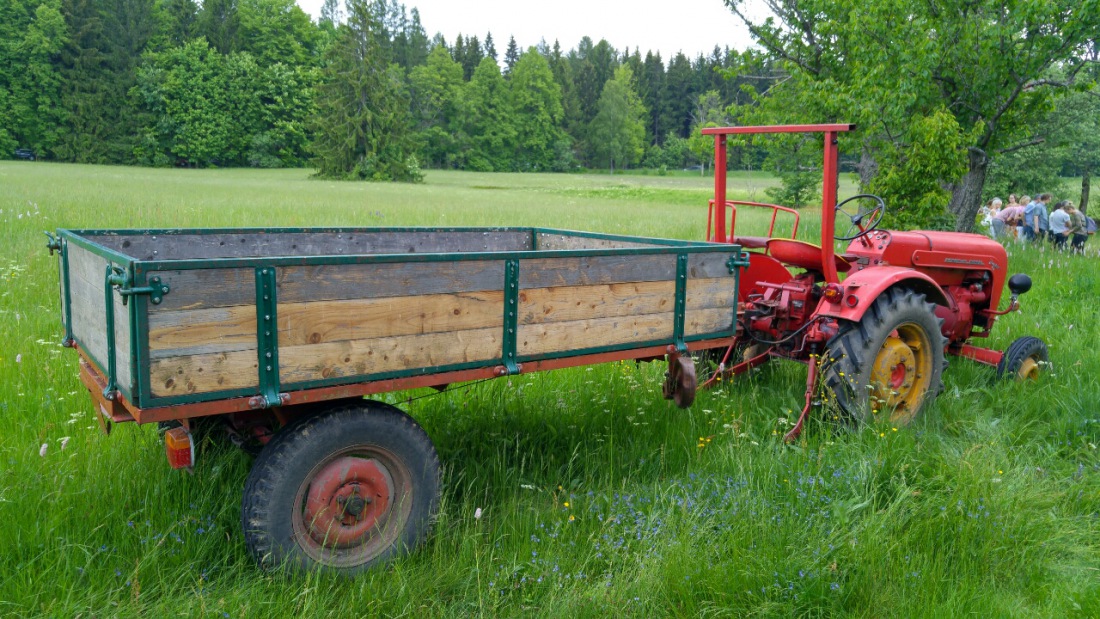
M 503 281 L 501 283 L 503 284 Z M 504 292 L 279 303 L 279 346 L 504 328 Z

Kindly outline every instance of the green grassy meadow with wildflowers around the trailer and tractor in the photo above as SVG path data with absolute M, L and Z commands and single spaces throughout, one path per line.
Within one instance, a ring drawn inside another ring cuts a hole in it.
M 250 458 L 204 445 L 189 475 L 168 468 L 153 428 L 102 435 L 77 357 L 58 345 L 44 230 L 549 225 L 701 239 L 710 183 L 429 172 L 424 185 L 366 185 L 0 163 L 0 616 L 1100 616 L 1096 246 L 1010 250 L 1010 272 L 1035 288 L 991 345 L 1044 338 L 1053 368 L 1041 383 L 952 360 L 945 393 L 906 428 L 812 424 L 783 444 L 804 368 L 781 363 L 686 411 L 661 399 L 658 364 L 505 378 L 408 406 L 422 393 L 392 394 L 439 450 L 443 506 L 425 546 L 354 581 L 260 572 L 239 526 Z M 735 175 L 730 195 L 762 199 L 771 183 Z

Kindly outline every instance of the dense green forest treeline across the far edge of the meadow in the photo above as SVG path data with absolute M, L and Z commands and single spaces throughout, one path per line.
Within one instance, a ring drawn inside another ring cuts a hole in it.
M 767 64 L 718 46 L 666 59 L 588 37 L 568 51 L 491 32 L 447 41 L 393 0 L 329 0 L 316 22 L 293 0 L 10 0 L 0 156 L 323 168 L 315 156 L 334 146 L 318 134 L 369 112 L 418 166 L 674 168 L 706 161 L 692 129 L 748 100 L 743 86 L 769 78 L 741 68 Z M 363 98 L 370 110 L 356 109 Z M 402 176 L 364 166 L 360 176 Z

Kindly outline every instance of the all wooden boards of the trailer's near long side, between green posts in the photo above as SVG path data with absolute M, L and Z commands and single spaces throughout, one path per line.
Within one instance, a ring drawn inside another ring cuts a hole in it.
M 685 335 L 732 331 L 737 294 L 726 259 L 689 258 Z M 153 395 L 258 389 L 254 269 L 150 275 L 172 288 L 150 306 Z M 675 277 L 675 255 L 522 259 L 517 354 L 671 340 Z M 503 355 L 503 259 L 286 266 L 276 281 L 284 386 Z

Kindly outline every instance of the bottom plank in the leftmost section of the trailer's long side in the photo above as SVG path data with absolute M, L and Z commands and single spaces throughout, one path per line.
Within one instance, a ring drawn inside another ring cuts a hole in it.
M 156 397 L 257 387 L 258 376 L 254 350 L 153 360 L 150 365 Z

